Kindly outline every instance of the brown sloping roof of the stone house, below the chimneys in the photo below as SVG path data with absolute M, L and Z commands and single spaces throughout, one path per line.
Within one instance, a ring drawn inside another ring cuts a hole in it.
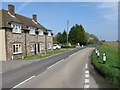
M 8 14 L 7 10 L 0 10 L 0 16 L 2 16 L 2 18 L 0 17 L 0 28 L 2 27 L 7 27 L 7 28 L 11 28 L 10 23 L 11 22 L 16 22 L 16 23 L 20 23 L 22 24 L 22 29 L 23 30 L 28 30 L 28 26 L 33 26 L 36 27 L 37 29 L 44 29 L 47 30 L 45 27 L 43 27 L 40 23 L 37 22 L 34 23 L 31 18 L 19 15 L 15 13 L 15 17 L 11 17 L 11 15 Z

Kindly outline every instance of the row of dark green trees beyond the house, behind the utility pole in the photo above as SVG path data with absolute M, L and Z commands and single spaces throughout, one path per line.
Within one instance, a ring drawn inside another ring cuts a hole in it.
M 68 42 L 71 45 L 78 45 L 78 43 L 79 45 L 95 44 L 98 41 L 98 38 L 93 34 L 87 33 L 82 25 L 76 24 L 72 26 L 68 33 Z M 63 33 L 58 32 L 54 36 L 54 43 L 67 45 L 67 32 L 65 30 Z

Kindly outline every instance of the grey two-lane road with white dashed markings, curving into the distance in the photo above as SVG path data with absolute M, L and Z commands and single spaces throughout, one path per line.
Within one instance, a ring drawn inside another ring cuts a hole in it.
M 93 49 L 75 49 L 4 72 L 3 88 L 111 88 L 90 64 Z

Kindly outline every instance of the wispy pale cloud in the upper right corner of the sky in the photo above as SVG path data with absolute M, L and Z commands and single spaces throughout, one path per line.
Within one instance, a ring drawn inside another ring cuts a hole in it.
M 117 2 L 100 3 L 97 8 L 99 10 L 102 10 L 103 18 L 110 21 L 117 21 L 118 19 L 118 3 Z

